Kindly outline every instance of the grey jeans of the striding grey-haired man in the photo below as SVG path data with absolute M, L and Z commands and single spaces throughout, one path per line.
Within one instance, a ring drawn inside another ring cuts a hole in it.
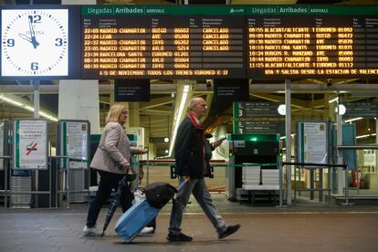
M 179 178 L 179 184 L 184 183 L 184 178 Z M 195 200 L 202 207 L 205 215 L 210 219 L 211 223 L 216 229 L 216 232 L 220 233 L 226 230 L 226 223 L 222 216 L 216 209 L 213 199 L 207 190 L 205 179 L 193 179 L 184 184 L 184 187 L 177 193 L 175 200 L 173 201 L 171 219 L 169 223 L 169 234 L 178 235 L 181 232 L 181 223 L 183 221 L 184 207 L 189 201 L 190 194 L 193 194 Z

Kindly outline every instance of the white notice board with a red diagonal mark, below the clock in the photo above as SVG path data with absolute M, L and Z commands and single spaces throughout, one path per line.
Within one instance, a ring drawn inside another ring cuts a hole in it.
M 14 170 L 48 169 L 48 131 L 49 122 L 47 120 L 16 119 L 13 121 L 12 168 Z M 38 145 L 38 142 L 41 144 Z M 20 147 L 24 146 L 26 147 L 25 152 L 20 152 Z M 27 163 L 25 156 L 33 152 L 38 154 L 37 158 L 35 160 L 29 159 L 29 162 L 32 163 Z M 25 155 L 22 155 L 22 153 Z M 33 163 L 40 163 L 40 165 L 38 164 L 36 166 L 36 164 Z

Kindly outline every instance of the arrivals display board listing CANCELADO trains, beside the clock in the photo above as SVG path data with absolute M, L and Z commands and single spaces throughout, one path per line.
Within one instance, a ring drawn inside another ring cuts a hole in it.
M 82 79 L 242 78 L 244 7 L 83 6 Z

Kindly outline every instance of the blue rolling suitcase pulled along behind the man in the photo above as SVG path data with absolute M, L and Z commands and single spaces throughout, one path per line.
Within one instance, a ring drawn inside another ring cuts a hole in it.
M 117 221 L 115 231 L 121 236 L 122 240 L 130 243 L 135 236 L 141 232 L 144 226 L 147 226 L 156 215 L 159 209 L 148 204 L 144 199 L 134 204 L 127 210 Z

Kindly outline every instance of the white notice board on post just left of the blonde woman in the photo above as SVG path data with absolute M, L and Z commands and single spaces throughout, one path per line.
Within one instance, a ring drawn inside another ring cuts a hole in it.
M 78 128 L 85 125 L 85 129 L 81 130 L 81 134 L 74 136 L 73 132 L 69 131 L 68 124 L 72 124 L 71 127 L 73 130 L 78 130 Z M 57 153 L 61 156 L 68 156 L 68 159 L 62 160 L 60 162 L 60 169 L 67 169 L 67 162 L 69 162 L 69 169 L 89 169 L 90 161 L 90 123 L 88 120 L 59 120 L 58 121 L 58 130 L 57 130 Z M 71 136 L 71 137 L 70 137 Z M 81 142 L 73 142 L 73 149 L 80 150 L 83 152 L 75 153 L 72 155 L 69 153 L 70 147 L 72 147 L 71 142 L 75 140 L 81 140 Z M 75 148 L 76 146 L 76 148 Z M 82 149 L 85 150 L 82 150 Z M 81 155 L 81 158 L 78 158 L 78 154 Z M 85 155 L 83 159 L 83 155 Z

